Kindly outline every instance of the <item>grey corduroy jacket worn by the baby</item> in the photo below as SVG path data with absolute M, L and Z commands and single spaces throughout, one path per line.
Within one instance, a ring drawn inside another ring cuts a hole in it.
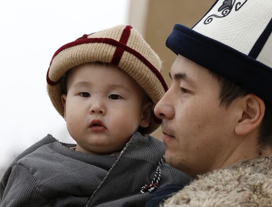
M 46 136 L 20 154 L 0 183 L 1 207 L 141 207 L 150 193 L 157 163 L 165 152 L 162 141 L 135 133 L 118 157 L 86 155 L 71 144 Z M 186 184 L 190 178 L 163 164 L 159 188 Z

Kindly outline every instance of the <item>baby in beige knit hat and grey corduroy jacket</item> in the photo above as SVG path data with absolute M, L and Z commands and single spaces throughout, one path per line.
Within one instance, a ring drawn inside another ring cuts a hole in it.
M 159 186 L 186 185 L 190 177 L 164 163 L 163 142 L 148 135 L 167 90 L 160 70 L 131 26 L 60 47 L 47 91 L 76 144 L 47 135 L 20 154 L 1 180 L 1 206 L 141 207 Z

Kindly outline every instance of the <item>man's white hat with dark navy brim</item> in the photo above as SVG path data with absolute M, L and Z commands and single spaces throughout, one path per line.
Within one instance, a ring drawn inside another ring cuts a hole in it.
M 166 46 L 272 104 L 272 0 L 217 0 Z

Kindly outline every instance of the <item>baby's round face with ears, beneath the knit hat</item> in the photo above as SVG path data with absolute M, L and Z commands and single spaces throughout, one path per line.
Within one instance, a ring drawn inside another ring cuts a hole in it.
M 62 95 L 69 134 L 84 153 L 121 150 L 138 126 L 146 127 L 143 90 L 124 71 L 112 65 L 84 64 L 67 78 Z

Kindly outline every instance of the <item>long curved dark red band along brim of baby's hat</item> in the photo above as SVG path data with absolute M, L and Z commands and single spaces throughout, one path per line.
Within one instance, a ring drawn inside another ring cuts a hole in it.
M 116 47 L 121 47 L 123 48 L 125 51 L 133 54 L 134 56 L 136 56 L 136 58 L 138 58 L 144 65 L 146 65 L 149 69 L 151 69 L 151 71 L 159 78 L 160 82 L 162 83 L 164 90 L 167 91 L 168 90 L 168 86 L 162 76 L 162 74 L 160 73 L 160 71 L 158 69 L 156 69 L 145 57 L 143 57 L 139 52 L 137 52 L 136 50 L 132 49 L 131 47 L 122 44 L 119 41 L 116 41 L 115 39 L 111 39 L 111 38 L 86 38 L 86 39 L 79 39 L 70 43 L 67 43 L 65 45 L 63 45 L 62 47 L 60 47 L 53 55 L 52 60 L 50 62 L 50 66 L 51 63 L 53 61 L 53 59 L 57 56 L 58 53 L 60 53 L 62 50 L 65 50 L 67 48 L 70 47 L 74 47 L 77 45 L 81 45 L 81 44 L 88 44 L 88 43 L 106 43 L 106 44 L 110 44 Z M 49 69 L 47 72 L 47 76 L 49 75 Z M 47 83 L 48 85 L 56 85 L 60 80 L 58 81 L 52 81 L 46 77 L 47 79 Z M 48 81 L 49 80 L 49 81 Z

